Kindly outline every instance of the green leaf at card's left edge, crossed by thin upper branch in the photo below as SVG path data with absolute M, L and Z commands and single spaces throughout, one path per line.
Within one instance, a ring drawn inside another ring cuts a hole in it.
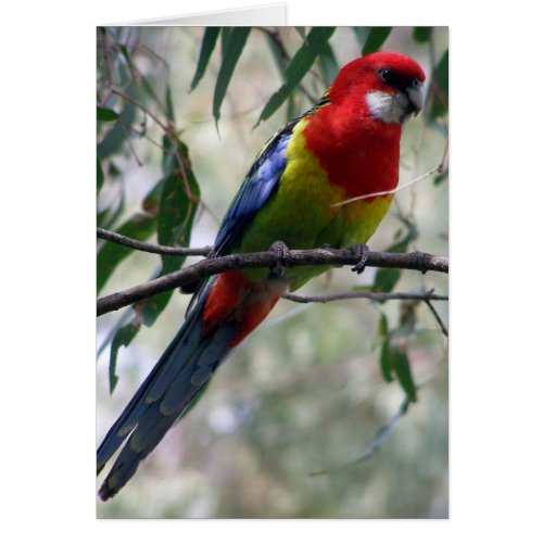
M 136 213 L 124 223 L 117 232 L 129 238 L 144 241 L 156 230 L 156 222 L 149 215 Z M 100 292 L 115 268 L 123 262 L 134 249 L 106 241 L 98 251 L 97 256 L 97 292 Z

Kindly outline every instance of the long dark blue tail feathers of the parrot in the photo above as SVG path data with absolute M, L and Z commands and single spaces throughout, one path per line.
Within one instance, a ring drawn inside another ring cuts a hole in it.
M 228 342 L 236 334 L 233 323 L 210 333 L 204 331 L 202 311 L 207 292 L 98 449 L 100 472 L 130 434 L 100 489 L 102 500 L 114 496 L 134 476 L 139 463 L 159 444 L 229 354 Z

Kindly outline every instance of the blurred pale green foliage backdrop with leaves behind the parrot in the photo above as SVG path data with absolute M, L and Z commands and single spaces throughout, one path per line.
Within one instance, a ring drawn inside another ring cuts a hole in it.
M 446 28 L 98 28 L 98 226 L 213 244 L 262 144 L 378 49 L 428 74 L 425 110 L 404 130 L 406 182 L 446 148 Z M 447 229 L 445 168 L 396 195 L 370 248 L 447 254 Z M 99 240 L 99 295 L 190 262 Z M 446 294 L 447 278 L 345 268 L 301 293 L 353 289 Z M 188 301 L 168 293 L 99 318 L 97 442 Z M 434 307 L 446 323 L 447 304 Z M 445 518 L 447 447 L 447 342 L 426 304 L 283 300 L 98 517 Z

